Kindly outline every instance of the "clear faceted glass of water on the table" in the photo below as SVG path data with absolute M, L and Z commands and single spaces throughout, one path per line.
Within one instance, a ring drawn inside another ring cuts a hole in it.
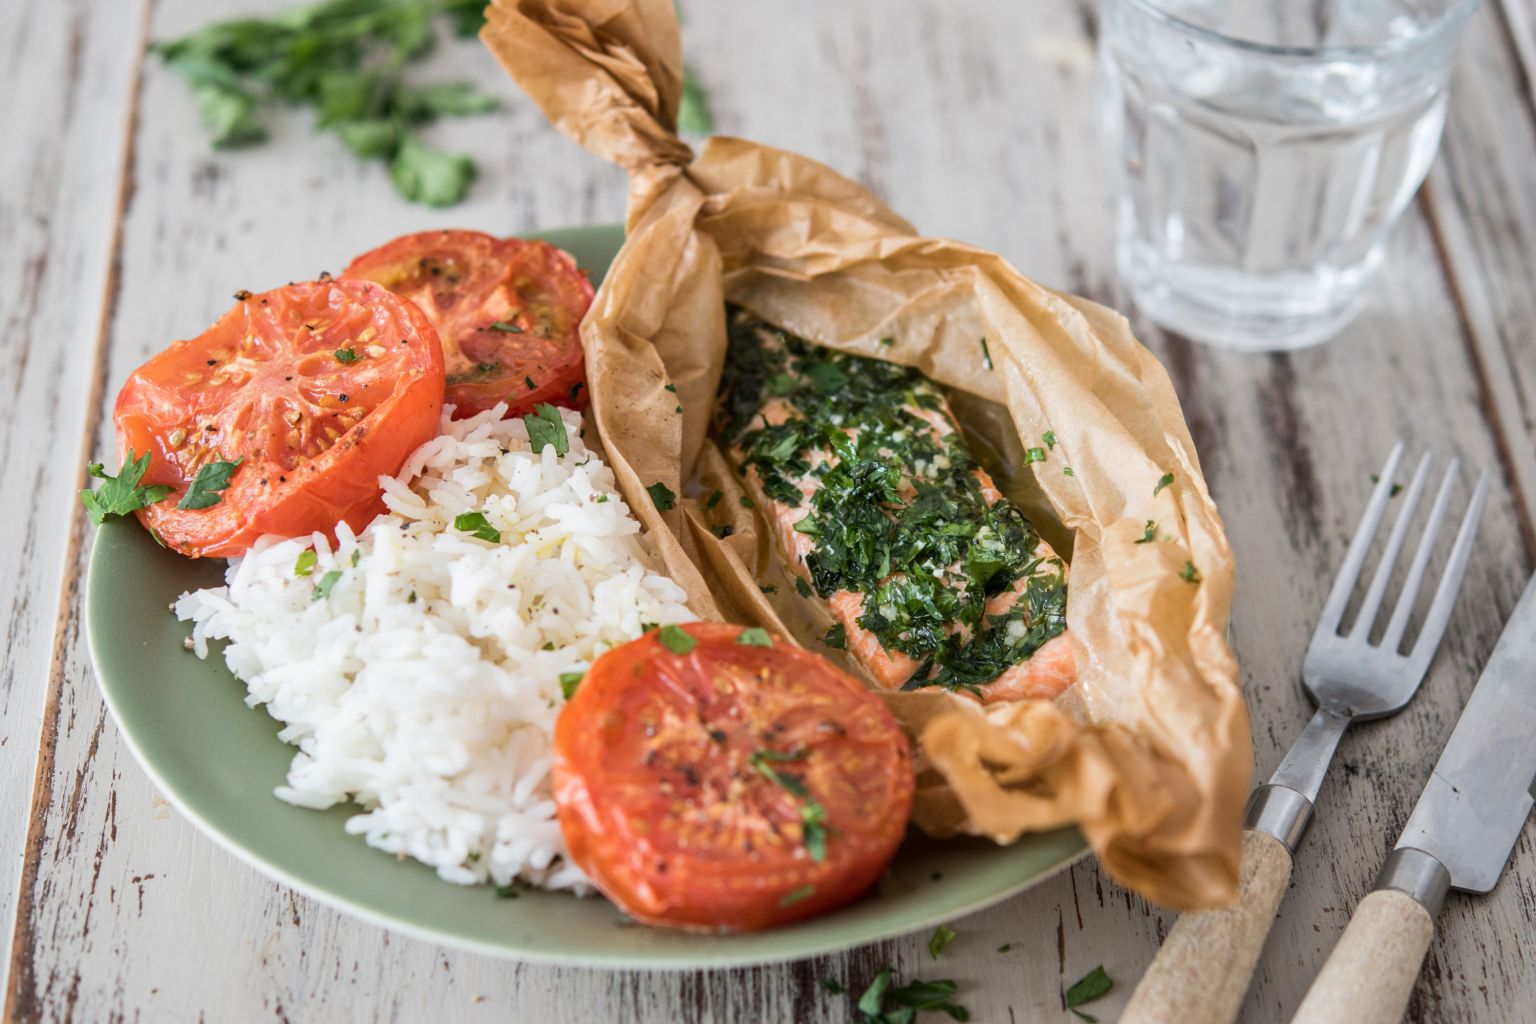
M 1359 313 L 1424 181 L 1479 0 L 1103 0 L 1115 258 L 1137 306 L 1249 352 Z

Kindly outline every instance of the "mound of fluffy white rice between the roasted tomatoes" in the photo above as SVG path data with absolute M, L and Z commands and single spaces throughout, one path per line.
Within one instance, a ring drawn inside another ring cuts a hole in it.
M 347 831 L 461 884 L 581 889 L 550 795 L 562 672 L 584 671 L 641 623 L 685 622 L 654 556 L 562 410 L 564 457 L 535 454 L 496 407 L 381 477 L 389 513 L 361 534 L 261 539 L 226 586 L 183 594 L 190 646 L 224 662 L 298 748 L 276 795 L 364 808 Z M 481 511 L 496 543 L 453 528 Z M 296 576 L 300 554 L 316 562 Z M 353 563 L 353 559 L 356 560 Z M 339 577 L 327 597 L 316 585 Z

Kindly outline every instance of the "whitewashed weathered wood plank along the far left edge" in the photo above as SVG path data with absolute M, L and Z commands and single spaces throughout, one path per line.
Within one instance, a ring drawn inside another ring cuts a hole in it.
M 37 775 L 60 590 L 75 588 L 81 424 L 100 401 L 94 353 L 118 223 L 143 3 L 0 8 L 0 953 Z M 65 574 L 66 562 L 71 570 Z

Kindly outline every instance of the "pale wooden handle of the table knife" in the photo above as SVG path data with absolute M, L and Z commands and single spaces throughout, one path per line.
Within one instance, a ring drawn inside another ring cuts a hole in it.
M 1398 1024 L 1433 933 L 1430 912 L 1409 894 L 1366 894 L 1293 1024 Z

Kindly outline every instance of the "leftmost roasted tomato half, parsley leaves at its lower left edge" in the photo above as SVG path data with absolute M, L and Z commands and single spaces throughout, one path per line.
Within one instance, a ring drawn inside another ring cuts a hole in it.
M 118 450 L 175 493 L 138 517 L 181 554 L 241 554 L 264 533 L 361 528 L 378 477 L 438 434 L 442 348 L 413 304 L 367 281 L 290 284 L 240 302 L 134 370 Z M 218 502 L 177 508 L 204 465 L 240 461 Z

